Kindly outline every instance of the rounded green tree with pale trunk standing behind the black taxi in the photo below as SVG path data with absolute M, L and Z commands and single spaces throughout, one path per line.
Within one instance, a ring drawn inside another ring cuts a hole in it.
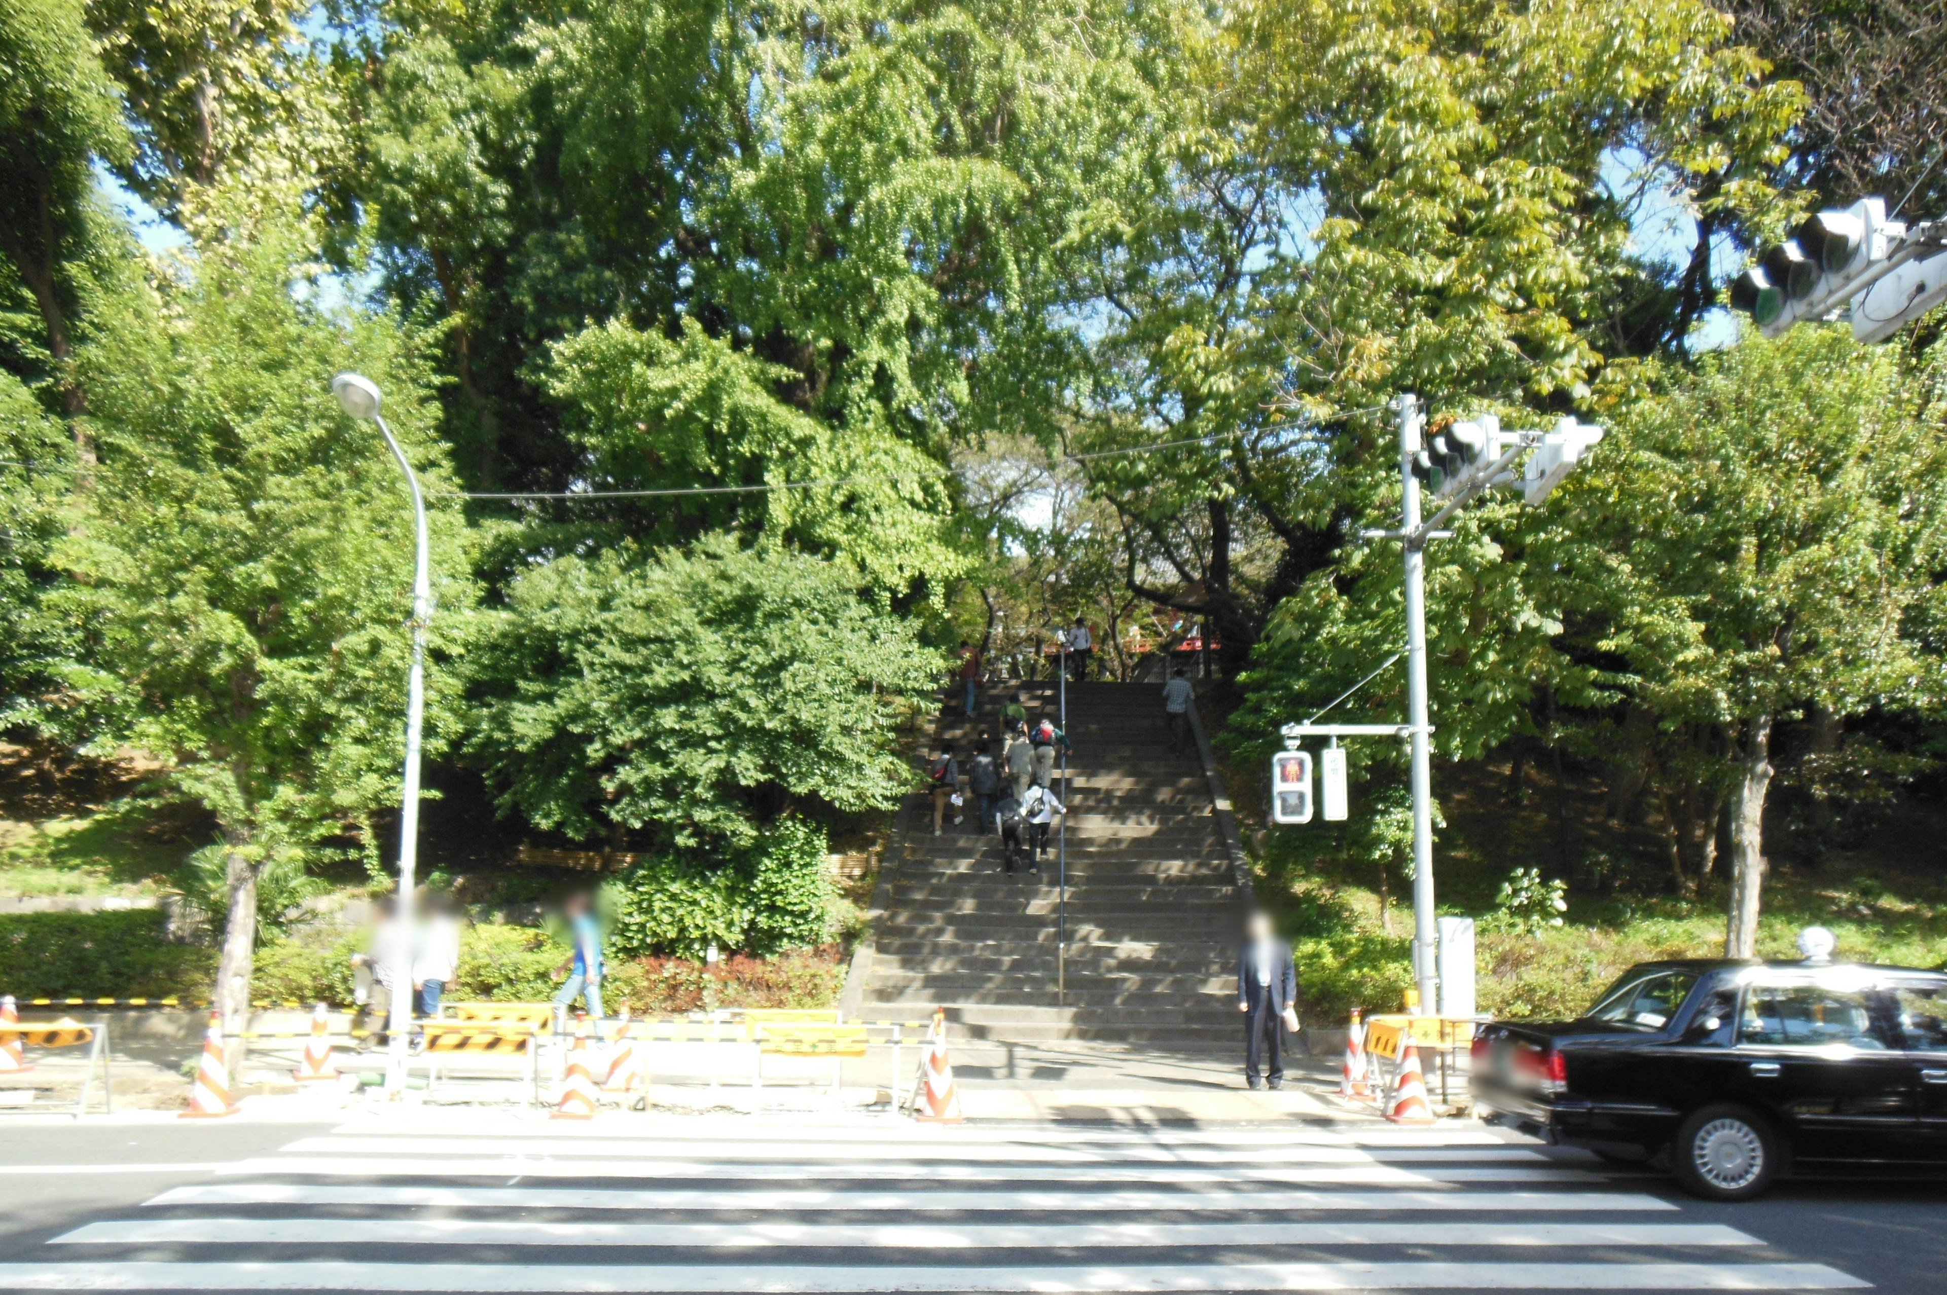
M 1844 329 L 1746 337 L 1641 384 L 1614 393 L 1614 438 L 1530 561 L 1561 573 L 1585 639 L 1626 662 L 1598 685 L 1663 728 L 1723 734 L 1725 954 L 1746 958 L 1774 726 L 1941 695 L 1922 631 L 1939 615 L 1947 450 L 1902 356 Z

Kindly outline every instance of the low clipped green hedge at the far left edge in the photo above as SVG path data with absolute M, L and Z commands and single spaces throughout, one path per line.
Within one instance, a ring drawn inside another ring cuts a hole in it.
M 0 993 L 33 997 L 204 997 L 216 954 L 171 944 L 162 909 L 0 917 Z

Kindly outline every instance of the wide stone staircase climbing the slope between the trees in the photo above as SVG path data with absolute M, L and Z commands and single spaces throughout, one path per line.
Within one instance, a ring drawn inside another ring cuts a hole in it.
M 958 703 L 935 744 L 962 771 L 997 730 L 993 689 L 974 721 Z M 1053 715 L 1055 685 L 1030 684 L 1030 719 Z M 1067 806 L 1067 978 L 1057 993 L 1057 865 L 1001 872 L 1001 841 L 966 824 L 933 835 L 931 800 L 907 810 L 896 870 L 882 878 L 863 1017 L 944 1007 L 958 1038 L 1084 1042 L 1145 1052 L 1234 1052 L 1238 888 L 1192 744 L 1168 748 L 1160 689 L 1071 684 Z M 1057 775 L 1059 777 L 1059 775 Z

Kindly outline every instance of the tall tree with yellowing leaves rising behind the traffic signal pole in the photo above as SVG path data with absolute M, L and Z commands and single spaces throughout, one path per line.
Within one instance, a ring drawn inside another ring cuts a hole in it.
M 1186 53 L 1145 140 L 1162 183 L 1086 226 L 1073 409 L 1088 450 L 1174 442 L 1090 475 L 1129 584 L 1213 621 L 1234 672 L 1396 516 L 1377 405 L 1563 409 L 1604 352 L 1682 343 L 1717 284 L 1643 263 L 1604 177 L 1641 154 L 1715 228 L 1776 224 L 1797 95 L 1702 0 L 1254 0 Z

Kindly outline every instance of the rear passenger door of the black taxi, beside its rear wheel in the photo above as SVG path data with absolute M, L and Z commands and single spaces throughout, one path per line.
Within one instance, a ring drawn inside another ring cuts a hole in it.
M 1844 978 L 1758 980 L 1745 985 L 1733 1052 L 1745 1092 L 1789 1131 L 1795 1157 L 1910 1155 L 1912 1061 L 1891 1036 L 1883 993 Z

